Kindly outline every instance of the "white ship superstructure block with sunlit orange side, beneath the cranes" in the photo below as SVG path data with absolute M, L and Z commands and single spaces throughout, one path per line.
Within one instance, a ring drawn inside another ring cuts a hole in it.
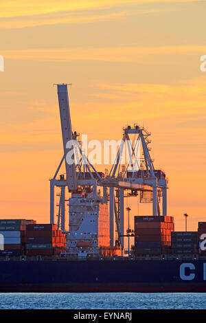
M 72 193 L 69 199 L 67 254 L 99 256 L 100 247 L 109 247 L 108 207 L 92 193 Z

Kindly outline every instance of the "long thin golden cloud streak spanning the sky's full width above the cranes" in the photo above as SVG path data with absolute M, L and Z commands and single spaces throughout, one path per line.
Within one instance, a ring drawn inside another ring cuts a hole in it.
M 69 62 L 71 60 L 99 60 L 111 62 L 163 63 L 161 55 L 190 55 L 206 52 L 206 45 L 174 45 L 160 47 L 75 47 L 54 49 L 5 50 L 7 59 Z M 152 56 L 153 55 L 153 56 Z M 154 57 L 156 55 L 156 57 Z M 172 60 L 166 60 L 167 64 Z

